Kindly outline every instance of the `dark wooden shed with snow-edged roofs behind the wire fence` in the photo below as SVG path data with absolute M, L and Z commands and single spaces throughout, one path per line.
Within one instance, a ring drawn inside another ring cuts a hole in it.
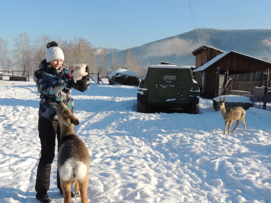
M 213 99 L 217 68 L 220 74 L 227 70 L 229 75 L 271 69 L 271 63 L 236 51 L 222 51 L 203 45 L 192 52 L 196 56 L 195 80 L 201 89 L 201 96 Z

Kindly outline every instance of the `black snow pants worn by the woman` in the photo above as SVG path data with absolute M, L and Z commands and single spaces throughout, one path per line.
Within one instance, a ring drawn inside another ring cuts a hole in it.
M 59 147 L 60 127 L 58 121 L 50 121 L 39 117 L 38 130 L 41 157 L 37 169 L 35 190 L 36 192 L 47 192 L 50 186 L 51 164 L 55 158 L 55 136 L 57 135 Z M 57 186 L 61 188 L 58 171 Z

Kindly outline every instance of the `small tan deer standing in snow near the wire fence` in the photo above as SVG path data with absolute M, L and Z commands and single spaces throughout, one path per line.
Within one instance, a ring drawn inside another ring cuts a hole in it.
M 239 124 L 239 119 L 242 121 L 242 123 L 244 124 L 244 127 L 246 129 L 246 122 L 245 122 L 245 114 L 246 114 L 246 112 L 245 112 L 245 110 L 241 106 L 231 108 L 231 109 L 226 109 L 225 108 L 225 102 L 226 102 L 226 98 L 224 98 L 222 100 L 222 97 L 220 97 L 220 100 L 219 100 L 219 103 L 218 103 L 218 108 L 220 109 L 222 117 L 225 120 L 225 128 L 224 128 L 224 134 L 223 135 L 225 135 L 226 128 L 227 128 L 228 124 L 229 124 L 228 134 L 230 134 L 232 122 L 236 121 L 236 125 L 232 130 L 232 131 L 234 131 L 236 129 L 236 127 L 238 126 L 238 124 Z

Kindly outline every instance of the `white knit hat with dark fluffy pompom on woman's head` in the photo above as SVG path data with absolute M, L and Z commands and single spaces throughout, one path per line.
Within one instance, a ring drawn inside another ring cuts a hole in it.
M 61 59 L 64 61 L 64 54 L 61 48 L 58 47 L 58 43 L 52 41 L 47 44 L 47 50 L 45 53 L 45 59 L 47 63 L 50 61 Z

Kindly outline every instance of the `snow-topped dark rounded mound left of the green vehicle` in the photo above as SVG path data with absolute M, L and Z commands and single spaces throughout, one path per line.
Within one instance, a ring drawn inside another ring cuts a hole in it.
M 108 78 L 109 85 L 139 85 L 139 78 L 131 70 L 117 69 Z

